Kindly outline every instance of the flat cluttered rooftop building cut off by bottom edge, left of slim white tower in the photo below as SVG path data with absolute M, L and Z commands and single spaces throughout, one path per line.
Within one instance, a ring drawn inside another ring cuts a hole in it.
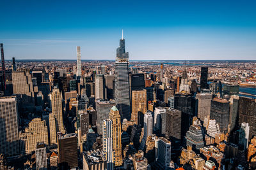
M 97 159 L 95 159 L 97 158 Z M 83 169 L 102 170 L 107 169 L 107 160 L 102 150 L 83 152 Z

